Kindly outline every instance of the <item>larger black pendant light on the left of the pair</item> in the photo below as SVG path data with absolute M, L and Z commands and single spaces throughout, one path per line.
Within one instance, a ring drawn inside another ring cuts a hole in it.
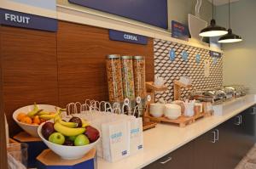
M 208 25 L 206 28 L 201 30 L 199 36 L 201 37 L 218 37 L 223 36 L 228 33 L 228 31 L 219 25 L 216 25 L 216 21 L 214 20 L 214 4 L 212 0 L 212 20 L 211 24 Z

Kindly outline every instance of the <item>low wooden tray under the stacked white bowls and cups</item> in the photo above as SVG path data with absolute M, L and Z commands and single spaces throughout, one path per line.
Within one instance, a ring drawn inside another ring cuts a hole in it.
M 177 124 L 179 127 L 186 127 L 187 125 L 195 122 L 198 119 L 201 119 L 203 117 L 207 117 L 212 115 L 213 111 L 209 112 L 203 112 L 199 115 L 194 115 L 192 117 L 189 116 L 180 116 L 175 120 L 168 119 L 166 117 L 154 117 L 152 115 L 149 115 L 148 113 L 145 113 L 144 118 L 149 119 L 150 121 L 156 121 L 156 122 L 169 122 L 172 124 Z

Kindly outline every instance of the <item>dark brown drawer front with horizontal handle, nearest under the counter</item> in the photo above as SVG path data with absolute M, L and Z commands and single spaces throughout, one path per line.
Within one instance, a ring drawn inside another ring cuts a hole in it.
M 145 166 L 144 169 L 191 169 L 194 155 L 194 142 L 190 142 L 160 160 Z

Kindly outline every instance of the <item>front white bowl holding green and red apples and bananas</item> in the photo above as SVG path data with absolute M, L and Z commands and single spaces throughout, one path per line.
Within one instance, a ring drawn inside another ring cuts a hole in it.
M 100 132 L 91 127 L 88 121 L 79 117 L 64 121 L 59 115 L 54 121 L 41 124 L 38 127 L 38 135 L 49 149 L 66 160 L 82 158 L 100 139 Z

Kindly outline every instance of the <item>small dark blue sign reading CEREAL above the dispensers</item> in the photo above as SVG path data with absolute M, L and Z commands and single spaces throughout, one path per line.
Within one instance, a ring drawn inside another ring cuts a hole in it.
M 109 30 L 109 39 L 113 41 L 132 42 L 143 45 L 148 44 L 148 37 L 124 31 Z

